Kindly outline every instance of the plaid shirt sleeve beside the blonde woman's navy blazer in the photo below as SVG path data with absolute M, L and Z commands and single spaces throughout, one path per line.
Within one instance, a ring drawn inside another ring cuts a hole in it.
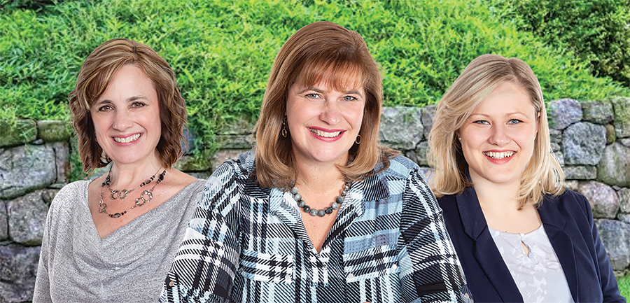
M 472 302 L 442 209 L 417 167 L 402 194 L 398 246 L 402 295 L 407 302 Z

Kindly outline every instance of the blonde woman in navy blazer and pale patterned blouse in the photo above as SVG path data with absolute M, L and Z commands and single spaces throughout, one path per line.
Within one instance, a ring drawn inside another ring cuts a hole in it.
M 475 302 L 625 302 L 589 202 L 564 189 L 525 62 L 472 60 L 437 104 L 429 150 Z

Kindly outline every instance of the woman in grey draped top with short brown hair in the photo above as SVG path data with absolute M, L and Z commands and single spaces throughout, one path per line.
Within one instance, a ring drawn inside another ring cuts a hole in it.
M 33 302 L 155 302 L 204 181 L 174 169 L 186 102 L 147 45 L 114 39 L 85 59 L 70 110 L 83 171 L 48 211 Z

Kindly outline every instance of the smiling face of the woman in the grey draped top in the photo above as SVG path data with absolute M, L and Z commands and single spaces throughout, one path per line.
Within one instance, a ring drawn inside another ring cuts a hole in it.
M 120 68 L 90 108 L 99 146 L 116 164 L 158 159 L 158 93 L 136 66 Z

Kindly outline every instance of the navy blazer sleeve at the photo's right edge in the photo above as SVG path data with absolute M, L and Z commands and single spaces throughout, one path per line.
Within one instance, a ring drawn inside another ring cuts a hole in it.
M 589 201 L 583 195 L 578 195 L 583 201 L 580 202 L 587 213 L 587 219 L 589 220 L 589 227 L 591 228 L 591 235 L 595 244 L 596 262 L 598 262 L 599 274 L 601 277 L 601 293 L 603 295 L 603 302 L 626 302 L 626 299 L 619 293 L 619 286 L 617 286 L 617 279 L 610 267 L 610 260 L 606 255 L 606 250 L 603 246 L 601 238 L 597 232 L 597 226 L 593 220 L 593 213 Z

